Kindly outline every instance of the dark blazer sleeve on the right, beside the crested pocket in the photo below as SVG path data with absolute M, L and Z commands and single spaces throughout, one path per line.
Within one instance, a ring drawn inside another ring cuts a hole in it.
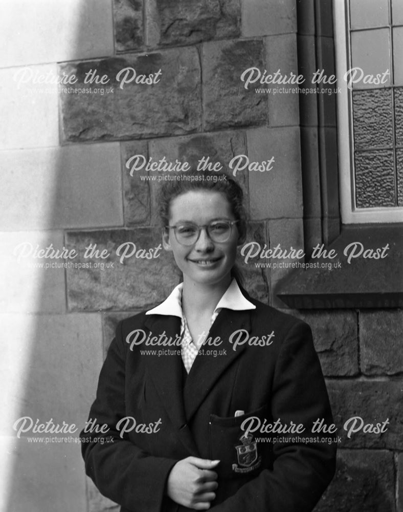
M 310 512 L 333 478 L 336 443 L 321 442 L 321 438 L 334 434 L 311 433 L 318 418 L 327 425 L 333 420 L 311 331 L 303 322 L 289 330 L 280 349 L 270 405 L 274 420 L 279 418 L 288 425 L 290 421 L 303 423 L 305 431 L 274 443 L 273 470 L 264 469 L 212 511 Z M 312 439 L 317 436 L 319 441 Z M 298 442 L 293 437 L 310 441 Z

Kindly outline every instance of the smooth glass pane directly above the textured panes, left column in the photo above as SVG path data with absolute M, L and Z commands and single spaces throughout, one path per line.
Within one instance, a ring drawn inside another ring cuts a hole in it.
M 354 88 L 379 87 L 379 83 L 364 83 L 369 75 L 382 77 L 389 70 L 390 73 L 390 43 L 389 29 L 362 30 L 351 32 L 351 58 L 352 67 L 362 70 L 362 78 L 353 83 Z M 356 79 L 360 75 L 357 75 Z M 383 87 L 390 85 L 390 74 L 385 75 Z M 382 86 L 381 86 L 382 87 Z

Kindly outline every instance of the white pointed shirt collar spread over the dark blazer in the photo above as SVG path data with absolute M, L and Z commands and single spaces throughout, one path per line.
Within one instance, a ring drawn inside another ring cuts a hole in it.
M 146 315 L 169 315 L 183 318 L 182 289 L 183 283 L 178 284 L 163 303 L 147 311 Z M 214 313 L 221 308 L 245 311 L 248 309 L 256 309 L 256 306 L 242 295 L 236 279 L 233 279 L 227 291 L 220 298 L 214 309 Z

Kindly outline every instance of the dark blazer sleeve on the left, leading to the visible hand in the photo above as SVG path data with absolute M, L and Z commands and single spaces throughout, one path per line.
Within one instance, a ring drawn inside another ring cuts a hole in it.
M 127 438 L 121 438 L 117 422 L 125 414 L 125 350 L 121 323 L 110 345 L 98 383 L 89 419 L 108 425 L 105 433 L 81 432 L 86 474 L 107 498 L 133 512 L 160 512 L 166 480 L 173 459 L 145 453 Z

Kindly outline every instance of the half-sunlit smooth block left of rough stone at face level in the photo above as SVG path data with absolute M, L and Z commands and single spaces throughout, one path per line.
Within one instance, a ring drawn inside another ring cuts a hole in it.
M 65 311 L 64 269 L 59 264 L 66 260 L 34 257 L 37 246 L 46 248 L 50 244 L 62 250 L 61 231 L 0 233 L 0 309 L 3 313 Z

